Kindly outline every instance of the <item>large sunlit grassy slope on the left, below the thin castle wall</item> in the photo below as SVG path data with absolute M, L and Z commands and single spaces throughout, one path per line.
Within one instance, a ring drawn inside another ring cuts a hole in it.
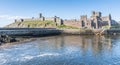
M 24 22 L 15 22 L 13 24 L 8 25 L 8 27 L 15 27 L 15 28 L 55 28 L 56 23 L 53 21 L 39 21 L 39 20 L 32 20 L 32 21 L 24 21 Z

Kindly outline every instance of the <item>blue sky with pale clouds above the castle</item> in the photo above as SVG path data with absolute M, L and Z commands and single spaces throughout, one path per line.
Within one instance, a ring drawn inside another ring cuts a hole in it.
M 120 0 L 0 0 L 0 27 L 13 23 L 15 19 L 59 16 L 62 19 L 80 19 L 100 11 L 103 16 L 112 15 L 120 21 Z

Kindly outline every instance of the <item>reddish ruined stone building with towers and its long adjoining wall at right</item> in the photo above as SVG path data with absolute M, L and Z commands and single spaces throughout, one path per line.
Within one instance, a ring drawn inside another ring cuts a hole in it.
M 111 26 L 111 15 L 102 16 L 101 12 L 92 12 L 90 18 L 87 18 L 87 15 L 83 15 L 79 20 L 64 20 L 63 24 L 68 26 L 75 26 L 79 28 L 93 28 L 99 29 L 103 26 Z

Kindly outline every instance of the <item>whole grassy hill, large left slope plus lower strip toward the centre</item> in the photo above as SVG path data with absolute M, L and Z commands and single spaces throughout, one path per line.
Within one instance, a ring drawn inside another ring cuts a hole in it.
M 24 21 L 24 22 L 14 22 L 10 25 L 5 26 L 5 28 L 59 28 L 59 29 L 78 29 L 73 26 L 66 25 L 57 25 L 56 22 L 53 21 Z

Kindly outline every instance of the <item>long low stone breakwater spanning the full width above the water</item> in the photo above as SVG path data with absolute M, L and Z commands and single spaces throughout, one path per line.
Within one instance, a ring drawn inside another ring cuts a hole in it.
M 101 35 L 101 34 L 119 34 L 119 29 L 56 29 L 56 28 L 0 28 L 0 35 L 14 36 L 48 36 L 59 34 L 79 34 L 79 35 Z

